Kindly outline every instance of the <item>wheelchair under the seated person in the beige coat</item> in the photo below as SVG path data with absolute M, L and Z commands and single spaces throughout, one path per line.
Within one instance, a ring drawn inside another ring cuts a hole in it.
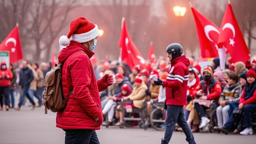
M 142 117 L 142 113 L 143 114 L 147 113 L 147 112 L 143 112 L 146 109 L 146 101 L 143 101 L 142 108 L 133 108 L 132 113 L 126 113 L 126 110 L 124 108 L 124 103 L 132 104 L 133 101 L 124 101 L 122 99 L 120 105 L 122 107 L 123 123 L 121 123 L 119 127 L 120 128 L 123 128 L 124 126 L 131 127 L 131 123 L 133 121 L 139 121 L 138 125 L 140 128 L 142 128 L 143 123 L 144 123 L 143 121 L 145 121 L 145 119 L 143 120 L 143 118 L 145 118 L 145 117 Z M 133 114 L 139 114 L 139 117 L 134 117 Z

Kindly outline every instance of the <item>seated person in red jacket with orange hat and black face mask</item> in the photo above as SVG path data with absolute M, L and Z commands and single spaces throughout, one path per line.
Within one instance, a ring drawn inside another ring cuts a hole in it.
M 215 100 L 217 103 L 221 95 L 221 84 L 218 80 L 213 78 L 213 69 L 211 66 L 206 66 L 203 70 L 204 80 L 200 81 L 198 86 L 193 92 L 192 98 L 194 99 L 194 107 L 201 118 L 199 129 L 206 126 L 210 120 L 204 114 L 204 110 L 210 108 L 211 101 Z

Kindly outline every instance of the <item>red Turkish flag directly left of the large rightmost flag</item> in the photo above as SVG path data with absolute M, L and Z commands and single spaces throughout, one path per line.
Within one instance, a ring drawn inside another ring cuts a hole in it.
M 219 28 L 204 17 L 200 12 L 191 7 L 197 27 L 198 40 L 200 43 L 201 57 L 218 57 Z

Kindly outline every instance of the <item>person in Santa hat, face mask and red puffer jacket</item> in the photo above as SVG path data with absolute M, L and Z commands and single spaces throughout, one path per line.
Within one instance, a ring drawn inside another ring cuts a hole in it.
M 89 58 L 94 54 L 98 35 L 96 24 L 79 17 L 71 22 L 69 34 L 59 39 L 61 45 L 67 46 L 58 55 L 64 97 L 73 89 L 66 109 L 56 116 L 56 127 L 66 132 L 65 144 L 99 144 L 95 132 L 103 121 L 99 92 L 111 86 L 114 78 L 106 74 L 96 81 Z

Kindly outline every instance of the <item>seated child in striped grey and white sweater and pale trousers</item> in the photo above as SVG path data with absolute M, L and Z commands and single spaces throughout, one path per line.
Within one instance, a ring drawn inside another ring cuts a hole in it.
M 229 118 L 229 102 L 239 98 L 240 88 L 238 74 L 229 74 L 228 85 L 224 87 L 219 97 L 219 107 L 216 110 L 218 126 L 223 126 L 227 122 Z

